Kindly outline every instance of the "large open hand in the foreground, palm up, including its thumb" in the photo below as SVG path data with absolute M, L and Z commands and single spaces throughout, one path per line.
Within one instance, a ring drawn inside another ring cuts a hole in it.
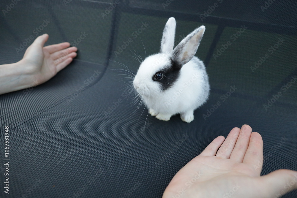
M 179 170 L 163 198 L 274 198 L 297 189 L 296 171 L 260 176 L 262 165 L 261 135 L 248 125 L 233 128 L 226 139 L 217 137 Z

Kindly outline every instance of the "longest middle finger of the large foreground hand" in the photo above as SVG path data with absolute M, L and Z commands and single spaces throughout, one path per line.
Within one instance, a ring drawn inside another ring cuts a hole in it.
M 229 159 L 232 159 L 233 161 L 236 161 L 238 163 L 242 163 L 244 155 L 249 146 L 249 139 L 251 137 L 251 134 L 252 128 L 249 125 L 244 124 L 241 127 L 236 144 Z

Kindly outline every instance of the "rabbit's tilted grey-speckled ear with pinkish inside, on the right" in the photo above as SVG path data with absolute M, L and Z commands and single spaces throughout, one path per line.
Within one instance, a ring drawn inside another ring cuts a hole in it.
M 195 55 L 200 41 L 203 37 L 205 26 L 192 31 L 187 37 L 185 37 L 173 50 L 172 59 L 181 66 L 189 62 Z

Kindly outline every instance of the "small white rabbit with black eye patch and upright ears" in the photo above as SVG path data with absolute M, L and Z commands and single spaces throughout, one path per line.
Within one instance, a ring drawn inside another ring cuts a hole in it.
M 167 21 L 160 52 L 148 56 L 139 66 L 133 86 L 152 116 L 168 121 L 175 114 L 190 123 L 194 110 L 209 95 L 208 75 L 203 62 L 195 57 L 205 26 L 196 28 L 173 49 L 176 21 Z

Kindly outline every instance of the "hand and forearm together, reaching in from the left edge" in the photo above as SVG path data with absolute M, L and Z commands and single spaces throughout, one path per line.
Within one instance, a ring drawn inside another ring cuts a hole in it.
M 64 42 L 44 47 L 48 34 L 37 37 L 22 60 L 0 65 L 0 94 L 34 87 L 48 81 L 77 55 L 76 47 Z

